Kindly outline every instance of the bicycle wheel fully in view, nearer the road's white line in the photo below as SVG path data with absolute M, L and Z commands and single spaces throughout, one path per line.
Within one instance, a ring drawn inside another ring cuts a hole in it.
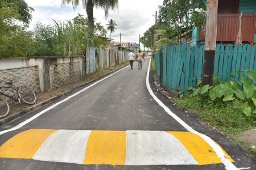
M 27 86 L 20 86 L 18 88 L 18 95 L 24 103 L 34 104 L 36 103 L 36 95 L 35 92 L 31 90 L 31 88 Z

